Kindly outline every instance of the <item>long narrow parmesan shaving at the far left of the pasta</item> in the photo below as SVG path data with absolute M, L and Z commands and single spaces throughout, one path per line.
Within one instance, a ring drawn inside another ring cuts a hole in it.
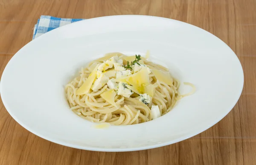
M 93 84 L 93 81 L 96 78 L 96 73 L 97 73 L 97 68 L 99 67 L 99 65 L 97 65 L 93 72 L 89 75 L 89 77 L 87 78 L 87 80 L 84 82 L 84 84 L 82 84 L 82 86 L 76 91 L 77 95 L 84 95 L 86 93 L 89 92 L 90 87 Z

